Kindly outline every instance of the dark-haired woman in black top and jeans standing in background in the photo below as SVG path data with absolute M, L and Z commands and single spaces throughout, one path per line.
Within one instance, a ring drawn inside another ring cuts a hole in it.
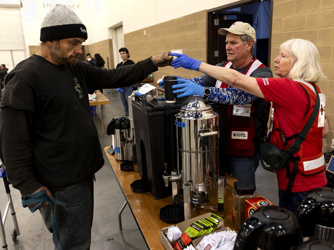
M 127 48 L 120 48 L 119 52 L 120 52 L 121 59 L 123 61 L 117 64 L 116 68 L 135 64 L 132 60 L 129 60 L 130 54 Z M 121 101 L 124 106 L 126 116 L 129 116 L 128 96 L 132 95 L 132 92 L 136 89 L 137 89 L 136 84 L 129 86 L 129 87 L 123 87 L 123 88 L 116 89 L 120 93 Z

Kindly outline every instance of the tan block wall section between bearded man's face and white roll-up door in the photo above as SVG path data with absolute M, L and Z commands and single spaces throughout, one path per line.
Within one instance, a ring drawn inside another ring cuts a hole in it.
M 95 54 L 100 54 L 105 60 L 105 68 L 108 68 L 108 61 L 109 58 L 109 68 L 115 68 L 114 65 L 114 53 L 113 53 L 113 40 L 107 39 L 104 41 L 100 41 L 97 43 L 92 43 L 90 45 L 85 45 L 86 54 L 91 53 L 92 57 L 94 57 Z M 86 58 L 86 55 L 85 55 Z

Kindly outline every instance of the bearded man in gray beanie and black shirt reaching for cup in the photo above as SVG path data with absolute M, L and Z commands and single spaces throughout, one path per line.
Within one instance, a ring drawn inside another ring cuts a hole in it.
M 26 205 L 40 208 L 55 249 L 91 245 L 93 176 L 104 159 L 88 94 L 141 82 L 172 60 L 164 52 L 117 69 L 97 68 L 78 60 L 86 39 L 76 14 L 57 4 L 43 19 L 39 51 L 8 74 L 0 104 L 1 161 Z M 29 204 L 32 194 L 40 203 Z

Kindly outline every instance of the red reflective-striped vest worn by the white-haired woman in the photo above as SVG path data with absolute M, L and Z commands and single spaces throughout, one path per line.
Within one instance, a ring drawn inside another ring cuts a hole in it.
M 308 121 L 309 117 L 312 114 L 312 111 L 314 109 L 315 103 L 316 103 L 316 94 L 314 92 L 313 85 L 309 83 L 304 84 L 302 82 L 299 82 L 307 91 L 307 93 L 310 96 L 310 107 L 309 110 L 304 118 L 304 120 L 301 122 L 301 124 L 298 127 L 298 133 L 301 132 L 301 130 L 304 128 L 306 122 Z M 318 93 L 321 94 L 321 91 L 317 85 L 315 85 Z M 302 142 L 300 149 L 294 154 L 295 157 L 300 157 L 300 161 L 298 161 L 298 172 L 302 175 L 313 175 L 316 173 L 321 172 L 325 168 L 325 159 L 324 159 L 324 154 L 322 152 L 322 129 L 323 125 L 320 126 L 318 125 L 321 116 L 323 116 L 322 119 L 325 119 L 325 112 L 324 112 L 324 106 L 322 102 L 320 102 L 320 107 L 319 107 L 319 114 L 317 115 L 310 131 L 306 135 L 304 141 Z M 291 139 L 288 141 L 285 145 L 282 139 L 281 132 L 276 129 L 280 128 L 279 124 L 279 117 L 277 117 L 277 113 L 275 112 L 275 107 L 274 108 L 274 121 L 273 121 L 273 131 L 271 132 L 270 136 L 270 143 L 274 144 L 278 148 L 282 150 L 286 150 L 290 145 L 293 143 L 294 139 Z M 305 114 L 305 111 L 301 111 L 301 115 Z M 320 126 L 320 127 L 318 127 Z M 283 128 L 284 129 L 284 128 Z M 289 161 L 290 164 L 290 169 L 292 169 L 293 163 Z

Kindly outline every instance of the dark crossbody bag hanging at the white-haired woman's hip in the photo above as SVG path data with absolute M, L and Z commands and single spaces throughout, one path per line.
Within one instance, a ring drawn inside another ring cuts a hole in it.
M 281 169 L 287 165 L 287 158 L 284 151 L 269 142 L 261 143 L 260 154 L 263 160 L 274 169 Z

